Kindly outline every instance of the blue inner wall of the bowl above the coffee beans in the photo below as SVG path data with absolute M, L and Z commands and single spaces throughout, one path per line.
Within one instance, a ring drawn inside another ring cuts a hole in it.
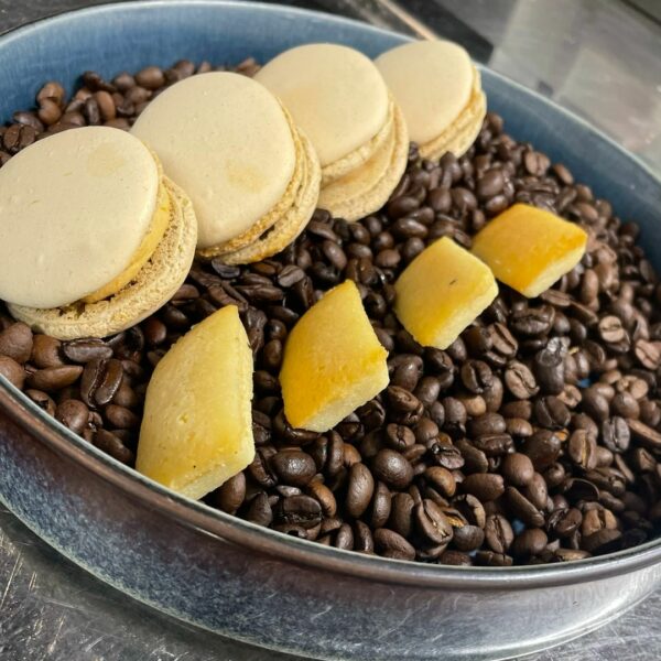
M 344 43 L 376 56 L 405 40 L 335 17 L 245 2 L 129 2 L 93 8 L 0 37 L 0 120 L 10 119 L 17 109 L 31 108 L 46 80 L 71 88 L 87 69 L 112 77 L 152 64 L 166 67 L 180 58 L 231 64 L 253 56 L 263 62 L 310 42 Z M 655 176 L 605 136 L 541 96 L 489 69 L 483 69 L 483 84 L 489 108 L 503 116 L 509 133 L 567 165 L 577 181 L 608 198 L 624 219 L 640 224 L 642 245 L 661 269 L 661 184 Z M 2 378 L 0 386 L 8 388 Z M 45 416 L 26 398 L 12 394 Z M 101 456 L 88 445 L 85 452 Z M 112 463 L 105 455 L 102 460 Z

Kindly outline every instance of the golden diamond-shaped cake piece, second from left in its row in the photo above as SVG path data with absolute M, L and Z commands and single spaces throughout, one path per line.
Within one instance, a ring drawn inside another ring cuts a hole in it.
M 356 284 L 332 289 L 286 340 L 280 384 L 288 421 L 313 432 L 333 429 L 388 386 L 387 358 Z

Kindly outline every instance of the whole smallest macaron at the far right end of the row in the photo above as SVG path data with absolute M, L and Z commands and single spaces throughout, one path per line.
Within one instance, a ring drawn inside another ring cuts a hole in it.
M 425 159 L 462 156 L 479 133 L 487 99 L 468 53 L 448 41 L 419 41 L 375 61 Z

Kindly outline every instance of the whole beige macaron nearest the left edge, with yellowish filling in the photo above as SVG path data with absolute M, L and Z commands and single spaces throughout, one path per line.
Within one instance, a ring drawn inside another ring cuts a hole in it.
M 136 137 L 87 127 L 0 170 L 0 299 L 34 330 L 105 337 L 159 310 L 186 279 L 193 206 Z

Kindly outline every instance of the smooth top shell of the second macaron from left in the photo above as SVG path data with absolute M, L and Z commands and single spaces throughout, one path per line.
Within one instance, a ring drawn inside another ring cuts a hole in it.
M 286 191 L 296 162 L 280 102 L 239 74 L 214 72 L 176 83 L 147 107 L 132 133 L 193 201 L 199 248 L 242 234 L 267 214 Z

